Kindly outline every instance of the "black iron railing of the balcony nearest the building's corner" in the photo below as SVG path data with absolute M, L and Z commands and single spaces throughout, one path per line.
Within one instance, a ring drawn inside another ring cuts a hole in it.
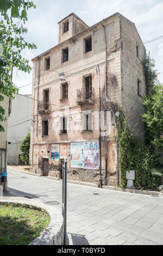
M 82 88 L 77 90 L 77 102 L 83 102 L 85 100 L 94 100 L 95 91 L 94 88 Z

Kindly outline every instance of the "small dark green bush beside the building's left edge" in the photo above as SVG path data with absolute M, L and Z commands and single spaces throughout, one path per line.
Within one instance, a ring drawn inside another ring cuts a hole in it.
M 22 141 L 20 145 L 20 150 L 22 152 L 20 158 L 22 162 L 29 163 L 29 148 L 30 148 L 30 133 L 27 134 L 26 138 Z

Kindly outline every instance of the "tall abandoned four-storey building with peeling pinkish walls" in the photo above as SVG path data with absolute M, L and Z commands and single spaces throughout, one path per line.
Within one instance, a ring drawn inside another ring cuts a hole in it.
M 67 157 L 68 180 L 99 184 L 99 84 L 101 99 L 120 104 L 143 139 L 146 49 L 119 13 L 91 27 L 74 13 L 58 24 L 58 45 L 32 60 L 30 171 L 61 178 Z M 110 109 L 101 110 L 102 182 L 117 185 L 116 125 Z

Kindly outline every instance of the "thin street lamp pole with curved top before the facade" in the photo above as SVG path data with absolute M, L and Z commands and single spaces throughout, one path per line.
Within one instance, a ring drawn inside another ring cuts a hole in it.
M 100 85 L 100 69 L 99 65 L 96 66 L 96 73 L 99 75 L 99 187 L 102 188 L 102 175 L 101 175 L 101 85 Z

